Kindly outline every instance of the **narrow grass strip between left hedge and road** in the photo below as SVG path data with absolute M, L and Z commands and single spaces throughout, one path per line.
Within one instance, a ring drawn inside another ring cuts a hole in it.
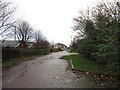
M 0 63 L 0 67 L 7 67 L 7 66 L 13 65 L 15 63 L 19 63 L 19 62 L 26 61 L 26 60 L 31 60 L 31 59 L 34 59 L 34 58 L 37 58 L 37 57 L 40 57 L 40 56 L 41 55 L 35 55 L 35 56 L 28 56 L 28 57 L 10 59 L 6 62 Z

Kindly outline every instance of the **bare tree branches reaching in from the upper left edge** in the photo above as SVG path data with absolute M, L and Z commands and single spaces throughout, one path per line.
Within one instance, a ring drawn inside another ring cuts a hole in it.
M 11 27 L 17 22 L 13 14 L 16 8 L 10 7 L 11 2 L 0 0 L 0 35 L 5 36 L 11 32 Z

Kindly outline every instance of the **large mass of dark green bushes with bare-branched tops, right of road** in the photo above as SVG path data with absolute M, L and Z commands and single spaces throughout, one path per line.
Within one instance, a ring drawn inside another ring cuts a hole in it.
M 89 18 L 83 15 L 75 19 L 79 23 L 75 27 L 81 26 L 79 30 L 84 30 L 86 36 L 78 39 L 73 48 L 91 60 L 107 65 L 113 72 L 120 73 L 120 27 L 116 7 L 115 1 L 103 2 L 94 7 L 94 13 Z

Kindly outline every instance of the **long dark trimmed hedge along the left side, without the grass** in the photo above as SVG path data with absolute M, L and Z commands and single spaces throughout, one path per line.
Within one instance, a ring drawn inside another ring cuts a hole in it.
M 49 53 L 47 49 L 15 49 L 2 48 L 2 61 L 7 61 L 12 58 L 27 57 L 33 55 L 46 55 Z

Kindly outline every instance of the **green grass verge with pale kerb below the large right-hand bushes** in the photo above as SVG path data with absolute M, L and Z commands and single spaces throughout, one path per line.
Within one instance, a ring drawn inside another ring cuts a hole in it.
M 74 69 L 99 74 L 107 74 L 108 68 L 80 56 L 79 54 L 62 56 L 61 59 L 71 59 Z

